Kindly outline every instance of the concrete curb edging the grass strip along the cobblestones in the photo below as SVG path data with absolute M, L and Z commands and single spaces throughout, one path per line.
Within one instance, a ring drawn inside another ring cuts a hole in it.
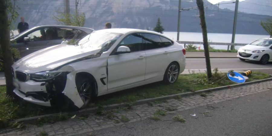
M 245 86 L 245 85 L 250 85 L 250 84 L 254 84 L 254 83 L 261 83 L 261 82 L 265 82 L 265 81 L 270 81 L 270 80 L 272 80 L 272 78 L 261 79 L 261 80 L 246 82 L 246 83 L 242 83 L 242 84 L 234 84 L 234 85 L 229 85 L 229 86 L 221 86 L 221 87 L 215 87 L 215 88 L 209 88 L 209 89 L 202 89 L 202 90 L 198 90 L 198 91 L 195 91 L 195 92 L 185 92 L 185 93 L 178 93 L 178 94 L 173 94 L 173 95 L 168 95 L 168 96 L 161 96 L 161 97 L 156 97 L 156 98 L 142 99 L 142 100 L 138 100 L 136 102 L 133 102 L 133 105 L 141 105 L 141 104 L 145 104 L 145 103 L 148 103 L 148 102 L 154 102 L 154 101 L 166 100 L 166 99 L 173 99 L 173 98 L 176 98 L 177 96 L 181 96 L 181 97 L 191 96 L 191 95 L 196 95 L 196 94 L 200 94 L 200 93 L 203 93 L 203 92 L 218 91 L 218 90 L 222 90 L 222 89 Z M 128 103 L 123 102 L 123 103 L 119 103 L 119 104 L 105 105 L 105 106 L 103 106 L 103 108 L 106 109 L 106 110 L 109 110 L 109 109 L 114 109 L 114 108 L 124 107 L 124 106 L 128 106 Z M 98 107 L 86 108 L 86 109 L 79 110 L 77 112 L 70 112 L 70 114 L 74 115 L 74 114 L 91 113 L 91 112 L 95 112 L 97 108 Z M 55 115 L 59 115 L 59 113 L 47 114 L 47 115 L 41 115 L 41 116 L 35 116 L 35 117 L 29 117 L 29 118 L 20 118 L 20 119 L 17 119 L 15 121 L 33 122 L 33 121 L 36 121 L 38 118 L 52 117 L 52 116 L 55 116 Z

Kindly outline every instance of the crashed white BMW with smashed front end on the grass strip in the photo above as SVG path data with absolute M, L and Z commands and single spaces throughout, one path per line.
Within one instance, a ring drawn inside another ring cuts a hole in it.
M 85 107 L 93 96 L 164 81 L 185 69 L 186 50 L 164 35 L 104 29 L 48 47 L 12 65 L 16 95 L 44 106 Z

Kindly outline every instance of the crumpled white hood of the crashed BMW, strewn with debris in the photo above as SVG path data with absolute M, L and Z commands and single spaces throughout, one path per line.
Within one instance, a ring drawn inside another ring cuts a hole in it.
M 14 66 L 31 69 L 27 71 L 46 71 L 58 66 L 98 53 L 101 48 L 82 47 L 75 45 L 59 44 L 31 53 L 20 60 Z

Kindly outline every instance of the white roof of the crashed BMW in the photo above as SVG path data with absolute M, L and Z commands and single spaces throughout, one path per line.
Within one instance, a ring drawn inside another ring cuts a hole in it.
M 131 28 L 111 28 L 111 29 L 102 29 L 102 30 L 97 30 L 97 32 L 111 32 L 111 33 L 119 33 L 119 34 L 131 34 L 131 33 L 149 33 L 149 34 L 157 34 L 163 37 L 166 37 L 163 34 L 160 34 L 158 32 L 154 31 L 148 31 L 148 30 L 141 30 L 141 29 L 131 29 Z M 169 37 L 167 37 L 170 39 Z

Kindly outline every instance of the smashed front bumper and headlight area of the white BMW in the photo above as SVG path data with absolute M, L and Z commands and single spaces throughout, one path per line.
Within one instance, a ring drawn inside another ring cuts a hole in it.
M 16 77 L 16 76 L 15 76 Z M 72 103 L 80 108 L 81 100 L 75 84 L 75 73 L 64 73 L 43 82 L 13 80 L 13 92 L 25 101 L 50 107 L 68 107 Z

